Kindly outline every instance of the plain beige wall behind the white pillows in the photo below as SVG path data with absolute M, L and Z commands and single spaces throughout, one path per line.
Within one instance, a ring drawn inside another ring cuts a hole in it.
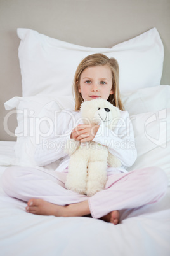
M 169 0 L 0 0 L 0 140 L 15 140 L 3 128 L 4 102 L 22 96 L 17 27 L 92 47 L 111 47 L 157 27 L 165 50 L 162 84 L 170 84 L 169 14 Z M 9 127 L 15 130 L 15 115 Z

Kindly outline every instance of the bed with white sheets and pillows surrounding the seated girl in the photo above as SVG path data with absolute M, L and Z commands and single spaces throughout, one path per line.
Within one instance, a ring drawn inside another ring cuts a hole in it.
M 170 87 L 160 85 L 164 47 L 157 29 L 112 48 L 73 45 L 32 29 L 21 28 L 17 34 L 23 96 L 5 103 L 10 112 L 4 127 L 9 131 L 8 118 L 15 112 L 17 141 L 0 141 L 0 174 L 7 166 L 36 166 L 36 144 L 50 133 L 60 111 L 74 108 L 70 85 L 77 64 L 86 55 L 104 53 L 119 62 L 122 101 L 134 128 L 138 158 L 128 171 L 159 166 L 170 187 Z M 44 168 L 55 170 L 59 163 Z M 169 256 L 169 187 L 159 203 L 122 210 L 119 225 L 89 217 L 32 215 L 25 211 L 25 202 L 1 188 L 0 251 L 3 256 Z

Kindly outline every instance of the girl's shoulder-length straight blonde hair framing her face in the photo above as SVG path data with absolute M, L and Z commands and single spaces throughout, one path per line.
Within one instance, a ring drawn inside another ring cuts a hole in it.
M 108 97 L 108 101 L 112 103 L 114 106 L 119 108 L 120 110 L 124 110 L 124 106 L 121 101 L 121 96 L 119 92 L 119 65 L 115 58 L 108 58 L 106 55 L 103 54 L 92 54 L 84 58 L 79 66 L 77 67 L 77 70 L 75 72 L 74 76 L 74 82 L 73 82 L 73 88 L 75 93 L 75 111 L 80 110 L 81 103 L 84 101 L 82 99 L 81 93 L 79 92 L 79 83 L 82 71 L 84 69 L 94 66 L 104 66 L 107 65 L 110 67 L 110 70 L 112 72 L 112 90 L 114 91 L 114 94 L 110 94 Z

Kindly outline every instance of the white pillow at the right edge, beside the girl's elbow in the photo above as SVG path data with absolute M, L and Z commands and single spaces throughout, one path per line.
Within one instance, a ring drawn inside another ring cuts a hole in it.
M 170 108 L 131 115 L 138 157 L 128 171 L 143 167 L 161 167 L 170 186 Z

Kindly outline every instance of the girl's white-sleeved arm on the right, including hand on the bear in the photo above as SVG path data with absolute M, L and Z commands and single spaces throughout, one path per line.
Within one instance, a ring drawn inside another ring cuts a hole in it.
M 134 133 L 128 111 L 121 111 L 121 117 L 114 131 L 103 123 L 99 125 L 78 125 L 72 131 L 71 137 L 81 142 L 95 141 L 109 148 L 123 166 L 131 166 L 137 157 L 134 143 Z

